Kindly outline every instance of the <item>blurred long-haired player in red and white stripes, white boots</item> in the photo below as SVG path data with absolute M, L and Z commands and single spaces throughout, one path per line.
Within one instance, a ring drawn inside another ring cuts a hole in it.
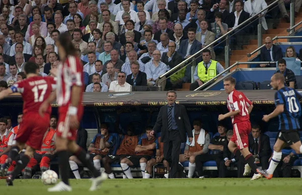
M 58 53 L 62 63 L 57 69 L 57 88 L 56 94 L 53 93 L 40 107 L 40 114 L 47 110 L 47 105 L 52 102 L 57 96 L 59 105 L 59 120 L 58 129 L 55 139 L 56 151 L 59 157 L 60 173 L 62 181 L 54 187 L 48 188 L 48 191 L 71 191 L 68 183 L 69 174 L 69 155 L 67 150 L 77 156 L 77 158 L 87 167 L 92 173 L 91 191 L 97 189 L 103 180 L 107 179 L 106 173 L 100 173 L 90 161 L 90 155 L 86 153 L 77 143 L 77 129 L 79 121 L 82 119 L 84 107 L 81 105 L 83 99 L 83 67 L 80 59 L 77 57 L 70 36 L 65 34 L 60 35 L 57 43 Z

